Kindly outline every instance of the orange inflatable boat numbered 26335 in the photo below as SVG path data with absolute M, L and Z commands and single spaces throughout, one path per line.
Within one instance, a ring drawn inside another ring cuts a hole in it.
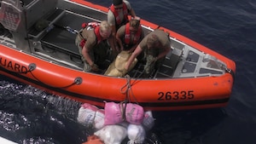
M 130 101 L 146 110 L 170 111 L 225 107 L 230 99 L 235 62 L 176 32 L 141 20 L 145 33 L 161 28 L 172 41 L 172 51 L 151 78 L 139 77 L 141 62 L 125 78 L 106 76 L 106 70 L 83 72 L 73 32 L 83 22 L 106 20 L 108 9 L 83 0 L 14 2 L 1 3 L 4 76 L 99 107 L 104 101 Z M 38 30 L 35 24 L 42 19 L 49 25 Z

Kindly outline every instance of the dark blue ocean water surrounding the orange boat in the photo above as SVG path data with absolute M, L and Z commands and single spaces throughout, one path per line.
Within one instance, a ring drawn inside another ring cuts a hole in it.
M 111 0 L 89 0 L 108 7 Z M 164 26 L 236 61 L 227 107 L 154 112 L 151 143 L 256 142 L 256 1 L 130 0 L 144 20 Z M 91 130 L 76 122 L 79 103 L 0 77 L 0 135 L 19 143 L 82 143 Z M 148 140 L 148 143 L 149 140 Z

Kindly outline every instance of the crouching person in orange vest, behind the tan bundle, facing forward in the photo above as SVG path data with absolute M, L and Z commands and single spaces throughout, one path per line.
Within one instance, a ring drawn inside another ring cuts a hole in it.
M 144 37 L 142 26 L 140 25 L 140 18 L 135 17 L 121 26 L 116 33 L 116 40 L 121 50 L 133 52 L 137 44 L 141 42 Z

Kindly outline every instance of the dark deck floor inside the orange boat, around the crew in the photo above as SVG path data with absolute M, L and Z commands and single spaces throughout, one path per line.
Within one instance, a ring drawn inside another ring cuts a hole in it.
M 107 16 L 107 15 L 106 15 Z M 82 70 L 83 62 L 80 59 L 79 49 L 74 43 L 76 34 L 67 31 L 67 26 L 72 29 L 79 30 L 83 22 L 100 21 L 81 14 L 76 14 L 64 9 L 55 9 L 54 13 L 50 14 L 47 18 L 49 21 L 49 28 L 45 32 L 38 32 L 36 29 L 31 29 L 29 37 L 32 41 L 40 41 L 41 46 L 35 47 L 33 51 L 37 55 L 51 57 L 51 59 L 65 61 L 71 63 L 75 68 Z M 47 32 L 49 31 L 49 32 Z M 149 32 L 148 29 L 143 28 L 145 33 Z M 174 68 L 177 65 L 179 56 L 172 56 L 172 53 L 166 56 L 166 65 L 161 66 L 157 72 L 154 73 L 154 78 L 172 78 Z M 176 62 L 172 60 L 176 58 Z M 110 64 L 111 60 L 107 64 Z M 175 64 L 176 63 L 176 64 Z M 138 77 L 143 72 L 143 63 L 138 63 L 136 68 L 129 74 L 131 77 Z

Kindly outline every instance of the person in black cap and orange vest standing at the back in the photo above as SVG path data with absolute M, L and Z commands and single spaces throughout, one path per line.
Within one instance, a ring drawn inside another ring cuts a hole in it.
M 126 0 L 113 0 L 113 4 L 108 10 L 108 23 L 112 26 L 113 44 L 118 52 L 120 49 L 116 43 L 115 35 L 120 26 L 129 22 L 128 15 L 136 16 L 131 4 Z

